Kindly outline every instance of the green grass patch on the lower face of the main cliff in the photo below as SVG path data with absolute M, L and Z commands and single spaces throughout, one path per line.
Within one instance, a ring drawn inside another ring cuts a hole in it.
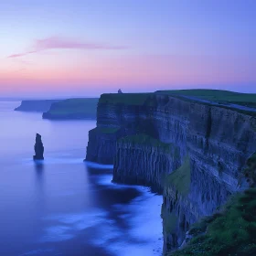
M 186 157 L 183 165 L 165 177 L 165 188 L 175 187 L 179 194 L 186 196 L 190 189 L 190 159 Z

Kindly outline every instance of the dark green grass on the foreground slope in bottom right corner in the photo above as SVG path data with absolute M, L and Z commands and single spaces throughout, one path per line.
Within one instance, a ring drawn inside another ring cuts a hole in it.
M 167 255 L 256 255 L 256 188 L 232 197 L 207 226 L 206 233 L 196 236 L 183 250 Z

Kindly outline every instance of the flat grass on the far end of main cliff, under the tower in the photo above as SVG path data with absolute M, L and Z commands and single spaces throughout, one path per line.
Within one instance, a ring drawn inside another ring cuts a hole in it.
M 143 105 L 152 93 L 105 93 L 101 94 L 99 103 Z

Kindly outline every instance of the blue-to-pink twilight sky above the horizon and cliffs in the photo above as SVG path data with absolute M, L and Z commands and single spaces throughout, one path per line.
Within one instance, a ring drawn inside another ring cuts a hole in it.
M 254 0 L 1 0 L 0 97 L 256 92 Z

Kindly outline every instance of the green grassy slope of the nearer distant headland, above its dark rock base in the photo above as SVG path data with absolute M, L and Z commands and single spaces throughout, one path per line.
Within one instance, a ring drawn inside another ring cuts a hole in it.
M 53 103 L 48 113 L 51 115 L 82 114 L 96 117 L 97 104 L 99 99 L 69 99 Z

